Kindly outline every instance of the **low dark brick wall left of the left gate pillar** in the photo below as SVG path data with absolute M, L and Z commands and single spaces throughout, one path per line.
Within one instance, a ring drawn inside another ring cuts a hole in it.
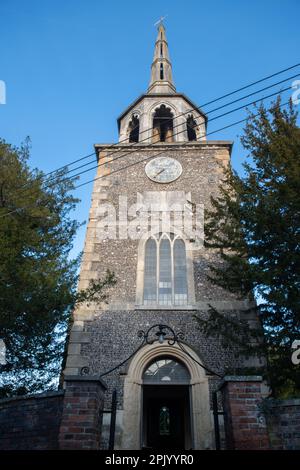
M 0 400 L 0 449 L 58 448 L 63 392 Z

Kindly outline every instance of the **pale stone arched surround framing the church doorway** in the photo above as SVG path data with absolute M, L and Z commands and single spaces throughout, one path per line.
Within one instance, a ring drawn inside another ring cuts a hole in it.
M 188 353 L 201 362 L 197 354 L 185 345 Z M 145 367 L 158 356 L 167 355 L 181 361 L 191 376 L 191 428 L 193 449 L 213 448 L 213 424 L 210 412 L 208 378 L 178 345 L 154 343 L 144 346 L 132 358 L 124 382 L 123 433 L 121 449 L 141 449 L 142 376 Z

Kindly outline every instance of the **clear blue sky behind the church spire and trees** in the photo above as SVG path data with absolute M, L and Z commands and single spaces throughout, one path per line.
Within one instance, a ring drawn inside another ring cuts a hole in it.
M 0 137 L 19 145 L 29 135 L 30 163 L 45 172 L 91 153 L 96 142 L 115 142 L 116 118 L 147 89 L 161 15 L 168 15 L 177 90 L 198 105 L 300 62 L 299 0 L 1 0 L 0 80 L 7 103 L 0 105 Z M 244 116 L 234 113 L 208 130 Z M 241 130 L 210 137 L 234 140 L 237 170 L 245 157 Z M 76 192 L 80 221 L 87 218 L 91 190 L 90 184 Z M 82 249 L 84 233 L 74 252 Z

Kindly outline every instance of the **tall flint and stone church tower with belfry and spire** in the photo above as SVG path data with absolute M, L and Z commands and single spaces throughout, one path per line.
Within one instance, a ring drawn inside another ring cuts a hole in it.
M 79 287 L 107 269 L 117 283 L 107 304 L 74 313 L 66 390 L 70 381 L 73 392 L 86 386 L 80 400 L 93 425 L 85 448 L 107 448 L 116 390 L 115 449 L 213 449 L 211 391 L 228 368 L 241 364 L 201 334 L 195 315 L 205 316 L 209 304 L 228 314 L 249 308 L 209 283 L 212 254 L 203 247 L 203 208 L 218 192 L 232 142 L 206 140 L 207 117 L 176 91 L 162 24 L 148 91 L 121 114 L 118 126 L 119 143 L 95 145 L 98 172 Z M 138 332 L 155 325 L 169 329 L 159 337 L 159 327 L 153 328 L 152 340 L 139 348 Z M 172 331 L 181 332 L 183 347 L 172 344 Z M 94 383 L 101 375 L 103 393 Z M 66 395 L 73 397 L 66 409 L 79 395 Z M 76 429 L 83 435 L 80 411 L 70 415 L 67 410 L 61 431 L 68 431 L 64 448 L 76 448 Z M 95 444 L 92 434 L 100 426 Z

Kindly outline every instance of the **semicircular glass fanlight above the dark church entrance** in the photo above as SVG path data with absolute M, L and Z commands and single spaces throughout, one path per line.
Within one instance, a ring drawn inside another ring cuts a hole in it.
M 170 357 L 155 359 L 143 374 L 145 384 L 188 384 L 190 374 L 187 368 L 179 361 Z

